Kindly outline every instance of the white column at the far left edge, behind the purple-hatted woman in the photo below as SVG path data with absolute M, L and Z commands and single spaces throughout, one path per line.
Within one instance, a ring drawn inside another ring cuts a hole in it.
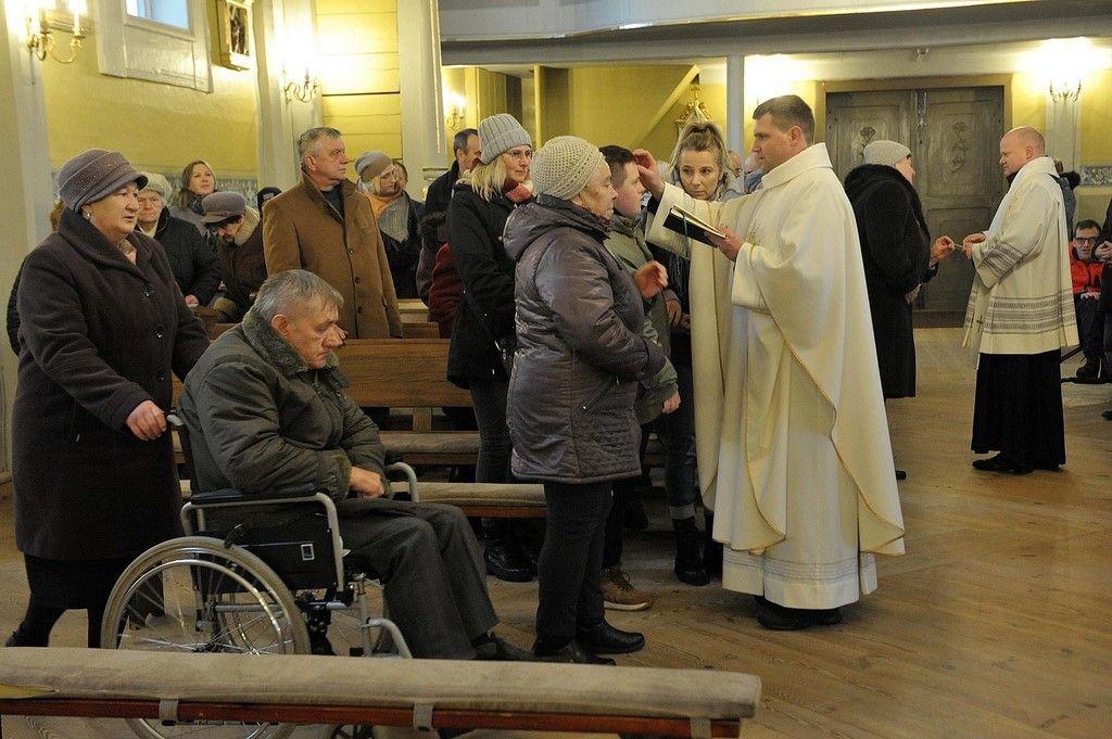
M 0 178 L 0 301 L 7 304 L 11 283 L 27 252 L 50 230 L 52 188 L 47 113 L 42 98 L 42 63 L 23 44 L 23 2 L 0 4 L 0 141 L 6 141 Z M 81 53 L 95 53 L 85 49 Z M 16 356 L 0 341 L 0 476 L 11 471 L 11 405 L 16 393 Z

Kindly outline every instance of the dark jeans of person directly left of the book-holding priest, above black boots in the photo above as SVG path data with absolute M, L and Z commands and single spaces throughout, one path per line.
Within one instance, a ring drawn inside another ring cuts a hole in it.
M 679 520 L 695 516 L 699 496 L 695 462 L 695 382 L 691 364 L 679 362 L 675 368 L 679 408 L 656 419 L 656 430 L 664 441 L 668 517 Z

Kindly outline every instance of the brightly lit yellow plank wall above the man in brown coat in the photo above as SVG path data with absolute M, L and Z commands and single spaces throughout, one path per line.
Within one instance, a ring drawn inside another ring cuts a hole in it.
M 325 126 L 348 153 L 403 157 L 397 0 L 316 0 Z

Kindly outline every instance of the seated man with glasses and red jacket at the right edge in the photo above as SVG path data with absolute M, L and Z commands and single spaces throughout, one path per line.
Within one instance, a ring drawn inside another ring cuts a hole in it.
M 1104 244 L 1108 244 L 1105 241 Z M 1104 311 L 1101 309 L 1101 272 L 1104 264 L 1096 256 L 1101 246 L 1101 227 L 1096 221 L 1078 223 L 1070 244 L 1070 273 L 1073 278 L 1073 307 L 1078 316 L 1078 334 L 1085 363 L 1078 369 L 1078 379 L 1095 381 L 1101 375 L 1104 343 Z M 1109 251 L 1108 248 L 1104 251 Z M 1105 379 L 1109 368 L 1105 363 Z

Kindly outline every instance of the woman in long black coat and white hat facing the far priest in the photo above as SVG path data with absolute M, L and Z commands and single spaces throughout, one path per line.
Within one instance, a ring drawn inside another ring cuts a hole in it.
M 915 396 L 912 303 L 953 249 L 950 237 L 931 243 L 923 207 L 912 183 L 909 149 L 894 141 L 865 147 L 865 163 L 845 178 L 857 217 L 873 337 L 885 398 Z

